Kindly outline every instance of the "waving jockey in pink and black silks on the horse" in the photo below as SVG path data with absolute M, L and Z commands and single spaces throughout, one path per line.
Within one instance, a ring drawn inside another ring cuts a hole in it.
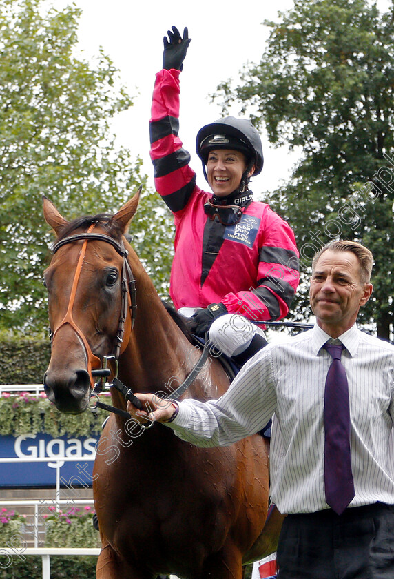
M 264 321 L 283 318 L 299 281 L 291 227 L 253 201 L 251 176 L 262 170 L 260 135 L 227 116 L 200 129 L 196 152 L 212 193 L 196 185 L 178 137 L 179 76 L 191 39 L 172 27 L 164 38 L 150 121 L 156 190 L 174 214 L 170 295 L 197 336 L 239 364 L 267 344 Z M 251 323 L 260 321 L 260 324 Z

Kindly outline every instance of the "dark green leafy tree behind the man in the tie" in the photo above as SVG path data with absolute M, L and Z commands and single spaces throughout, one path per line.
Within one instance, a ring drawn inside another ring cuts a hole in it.
M 311 256 L 334 238 L 364 243 L 375 257 L 364 323 L 388 339 L 393 326 L 394 12 L 366 0 L 295 0 L 279 13 L 260 63 L 246 65 L 229 105 L 251 110 L 269 141 L 302 148 L 291 180 L 270 196 L 298 240 L 302 279 Z M 309 315 L 307 296 L 294 312 Z

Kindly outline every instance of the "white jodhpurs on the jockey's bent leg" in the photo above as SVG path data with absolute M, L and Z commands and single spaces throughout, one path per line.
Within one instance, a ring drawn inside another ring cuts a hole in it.
M 240 314 L 225 314 L 216 318 L 209 329 L 209 341 L 223 354 L 238 356 L 250 345 L 253 336 L 265 333 Z M 267 338 L 265 338 L 267 339 Z

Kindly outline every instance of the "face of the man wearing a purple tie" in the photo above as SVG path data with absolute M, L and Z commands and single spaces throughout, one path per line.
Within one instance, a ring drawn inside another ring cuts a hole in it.
M 371 293 L 371 283 L 360 280 L 360 263 L 353 252 L 322 253 L 312 274 L 309 299 L 318 325 L 327 334 L 336 338 L 346 332 Z

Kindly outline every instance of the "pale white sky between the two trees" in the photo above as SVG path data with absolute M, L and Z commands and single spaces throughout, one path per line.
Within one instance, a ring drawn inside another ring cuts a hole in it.
M 48 0 L 55 8 L 67 0 Z M 120 70 L 122 83 L 134 96 L 134 106 L 118 115 L 113 131 L 118 142 L 132 155 L 143 159 L 143 172 L 153 187 L 153 168 L 149 158 L 149 117 L 154 76 L 162 66 L 163 37 L 173 25 L 181 32 L 187 26 L 192 39 L 180 75 L 180 138 L 191 152 L 191 166 L 200 187 L 205 183 L 200 160 L 194 152 L 196 134 L 207 123 L 218 119 L 220 106 L 209 94 L 220 81 L 237 79 L 247 62 L 258 62 L 265 49 L 269 29 L 264 19 L 277 19 L 278 10 L 288 10 L 292 0 L 74 0 L 81 8 L 79 48 L 91 59 L 101 46 Z M 239 108 L 231 110 L 240 116 Z M 258 194 L 273 190 L 286 179 L 297 159 L 287 148 L 275 150 L 262 134 L 265 166 L 252 180 Z

